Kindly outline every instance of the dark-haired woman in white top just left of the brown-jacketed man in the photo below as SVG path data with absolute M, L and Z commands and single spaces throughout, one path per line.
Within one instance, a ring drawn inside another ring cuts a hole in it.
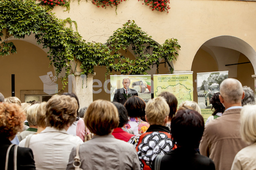
M 212 104 L 212 109 L 214 108 L 214 111 L 212 113 L 212 116 L 209 116 L 207 121 L 205 122 L 205 125 L 207 123 L 211 122 L 213 119 L 218 118 L 222 115 L 222 113 L 225 111 L 225 107 L 222 105 L 220 98 L 219 98 L 219 92 L 212 95 L 212 98 L 210 99 L 210 104 Z

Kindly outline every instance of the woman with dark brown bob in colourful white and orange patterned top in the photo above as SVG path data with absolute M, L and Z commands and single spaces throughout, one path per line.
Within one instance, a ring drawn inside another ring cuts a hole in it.
M 128 112 L 128 123 L 125 129 L 131 129 L 134 135 L 141 135 L 148 130 L 149 123 L 143 121 L 145 118 L 146 103 L 138 96 L 132 96 L 125 102 L 125 108 Z

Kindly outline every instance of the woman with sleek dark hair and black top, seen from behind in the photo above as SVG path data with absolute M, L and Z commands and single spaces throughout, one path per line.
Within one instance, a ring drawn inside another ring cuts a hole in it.
M 160 170 L 215 170 L 211 159 L 196 152 L 204 133 L 204 118 L 194 110 L 179 110 L 172 118 L 171 133 L 177 148 L 160 160 Z M 152 170 L 155 170 L 154 159 Z M 157 168 L 157 167 L 156 167 Z

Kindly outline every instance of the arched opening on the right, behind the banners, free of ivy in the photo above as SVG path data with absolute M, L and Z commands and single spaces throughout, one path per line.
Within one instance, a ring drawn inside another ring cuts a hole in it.
M 229 77 L 254 89 L 256 52 L 243 40 L 232 36 L 219 36 L 206 41 L 197 51 L 193 71 L 194 101 L 197 101 L 196 76 L 200 72 L 229 71 Z

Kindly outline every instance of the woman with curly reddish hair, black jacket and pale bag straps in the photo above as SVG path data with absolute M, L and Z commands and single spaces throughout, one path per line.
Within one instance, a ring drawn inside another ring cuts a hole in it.
M 15 147 L 10 142 L 17 132 L 23 128 L 26 119 L 24 111 L 17 104 L 0 104 L 0 169 L 14 169 Z M 10 148 L 8 160 L 6 153 Z M 24 147 L 17 147 L 17 170 L 35 170 L 35 161 L 32 150 Z M 6 167 L 7 165 L 8 167 Z

